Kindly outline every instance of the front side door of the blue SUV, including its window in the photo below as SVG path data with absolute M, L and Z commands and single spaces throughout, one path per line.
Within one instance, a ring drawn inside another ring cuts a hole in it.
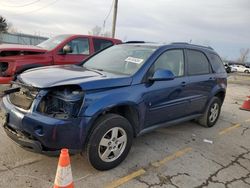
M 161 54 L 150 68 L 149 75 L 153 75 L 158 69 L 168 69 L 173 72 L 175 78 L 145 84 L 145 128 L 185 116 L 188 100 L 185 95 L 187 78 L 184 65 L 183 50 L 174 49 Z

